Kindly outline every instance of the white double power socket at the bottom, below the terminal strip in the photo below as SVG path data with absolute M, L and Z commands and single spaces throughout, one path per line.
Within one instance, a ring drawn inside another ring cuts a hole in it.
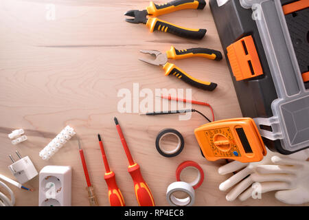
M 71 166 L 45 166 L 39 174 L 38 206 L 71 206 Z

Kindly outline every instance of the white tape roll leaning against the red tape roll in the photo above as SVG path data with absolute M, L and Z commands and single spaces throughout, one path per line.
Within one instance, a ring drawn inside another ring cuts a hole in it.
M 179 199 L 173 195 L 174 192 L 185 192 L 188 196 L 185 199 Z M 175 181 L 168 186 L 166 199 L 171 206 L 192 206 L 195 199 L 194 188 L 184 181 Z

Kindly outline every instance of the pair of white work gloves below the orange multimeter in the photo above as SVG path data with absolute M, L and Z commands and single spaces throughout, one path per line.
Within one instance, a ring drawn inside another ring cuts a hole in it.
M 281 155 L 267 151 L 260 162 L 225 164 L 218 173 L 236 174 L 222 182 L 219 189 L 229 190 L 226 199 L 233 201 L 237 197 L 244 201 L 249 197 L 261 198 L 262 193 L 275 192 L 275 198 L 288 204 L 309 202 L 309 148 L 291 155 Z M 236 185 L 237 184 L 237 185 Z

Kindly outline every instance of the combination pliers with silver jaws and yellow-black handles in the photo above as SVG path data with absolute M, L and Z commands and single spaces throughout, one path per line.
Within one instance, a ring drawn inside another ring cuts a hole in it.
M 144 54 L 155 55 L 156 56 L 155 60 L 148 60 L 144 58 L 139 58 L 139 60 L 144 61 L 146 63 L 150 63 L 152 65 L 162 65 L 163 69 L 165 70 L 165 76 L 173 74 L 177 78 L 183 80 L 185 83 L 188 83 L 199 89 L 204 89 L 208 91 L 212 91 L 217 87 L 216 83 L 209 83 L 193 78 L 189 74 L 185 73 L 179 67 L 176 67 L 176 65 L 168 63 L 168 58 L 179 60 L 194 56 L 200 56 L 204 58 L 209 58 L 211 60 L 220 61 L 222 60 L 222 54 L 217 50 L 210 50 L 207 48 L 191 48 L 187 50 L 176 50 L 175 47 L 172 46 L 170 50 L 168 50 L 165 54 L 162 54 L 157 50 L 141 50 L 140 52 Z

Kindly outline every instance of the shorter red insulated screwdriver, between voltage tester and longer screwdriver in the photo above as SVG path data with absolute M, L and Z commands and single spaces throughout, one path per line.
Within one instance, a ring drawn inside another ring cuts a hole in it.
M 126 206 L 124 203 L 124 197 L 122 196 L 122 192 L 119 190 L 119 187 L 117 186 L 115 173 L 111 171 L 111 169 L 108 166 L 108 161 L 105 155 L 104 146 L 100 134 L 98 134 L 98 138 L 106 170 L 106 173 L 104 174 L 104 179 L 108 186 L 109 203 L 111 204 L 111 206 Z

